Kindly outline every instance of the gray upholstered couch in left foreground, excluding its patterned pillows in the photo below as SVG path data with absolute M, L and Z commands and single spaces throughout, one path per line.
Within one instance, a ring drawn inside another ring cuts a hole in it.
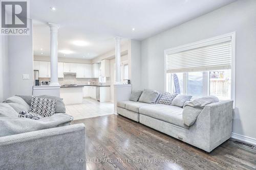
M 56 113 L 39 120 L 18 117 L 32 96 L 12 96 L 0 103 L 0 169 L 86 169 L 86 132 L 83 124 L 70 125 L 60 98 Z

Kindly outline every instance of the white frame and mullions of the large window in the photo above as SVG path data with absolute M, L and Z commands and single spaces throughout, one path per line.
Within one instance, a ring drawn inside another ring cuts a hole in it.
M 226 37 L 231 37 L 231 91 L 230 91 L 231 94 L 230 95 L 231 95 L 231 100 L 233 100 L 233 108 L 235 108 L 236 107 L 236 32 L 231 32 L 228 34 L 224 34 L 224 35 L 220 35 L 220 36 L 216 36 L 216 37 L 212 37 L 212 38 L 204 39 L 201 41 L 197 41 L 197 42 L 193 42 L 193 43 L 189 43 L 189 44 L 185 44 L 185 45 L 180 45 L 177 47 L 168 48 L 168 49 L 164 50 L 164 90 L 165 91 L 167 90 L 167 86 L 166 86 L 167 85 L 166 84 L 167 83 L 166 82 L 167 61 L 166 60 L 167 60 L 167 54 L 170 51 L 182 52 L 188 48 L 193 48 L 193 46 L 194 46 L 194 48 L 198 48 L 202 44 L 209 43 L 211 41 L 215 41 L 220 38 L 226 38 Z M 208 79 L 209 79 L 209 75 L 208 75 Z M 188 86 L 188 83 L 187 82 L 185 82 L 185 83 L 186 83 L 186 86 Z M 170 83 L 170 86 L 172 86 L 171 83 Z M 208 84 L 208 86 L 209 86 L 209 84 Z M 170 87 L 170 89 L 172 89 L 172 87 Z M 209 87 L 207 87 L 207 89 L 209 89 Z M 187 93 L 187 91 L 186 91 L 186 93 Z

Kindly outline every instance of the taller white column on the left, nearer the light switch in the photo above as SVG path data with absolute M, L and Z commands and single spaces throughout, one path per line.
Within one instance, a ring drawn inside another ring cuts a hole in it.
M 55 23 L 48 23 L 51 31 L 51 86 L 58 86 L 58 28 Z

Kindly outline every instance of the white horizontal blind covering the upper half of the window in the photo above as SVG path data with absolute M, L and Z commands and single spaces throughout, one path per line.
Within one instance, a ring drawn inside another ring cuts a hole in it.
M 231 37 L 167 50 L 167 72 L 206 71 L 231 68 Z

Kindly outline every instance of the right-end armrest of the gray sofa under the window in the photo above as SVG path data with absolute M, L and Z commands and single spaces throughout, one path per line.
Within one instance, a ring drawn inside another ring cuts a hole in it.
M 201 136 L 208 141 L 206 146 L 209 149 L 208 152 L 231 137 L 232 118 L 233 101 L 206 105 L 199 114 L 193 126 L 201 129 Z

